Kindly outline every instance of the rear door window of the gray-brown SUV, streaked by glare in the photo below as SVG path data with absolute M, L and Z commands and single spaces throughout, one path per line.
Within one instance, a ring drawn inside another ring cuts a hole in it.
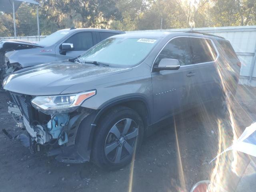
M 189 38 L 191 44 L 191 64 L 212 62 L 217 57 L 217 52 L 210 39 Z

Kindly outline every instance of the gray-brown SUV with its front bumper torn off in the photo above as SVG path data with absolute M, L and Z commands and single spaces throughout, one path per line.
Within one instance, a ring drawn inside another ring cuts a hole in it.
M 101 168 L 129 164 L 175 114 L 226 109 L 240 61 L 230 42 L 196 32 L 112 36 L 77 58 L 26 68 L 3 82 L 32 152 Z

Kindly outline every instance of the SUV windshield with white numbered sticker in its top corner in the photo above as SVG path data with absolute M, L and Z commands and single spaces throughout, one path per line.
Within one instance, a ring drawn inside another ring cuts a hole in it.
M 109 38 L 84 53 L 82 62 L 96 61 L 114 66 L 134 66 L 141 62 L 156 45 L 157 39 Z

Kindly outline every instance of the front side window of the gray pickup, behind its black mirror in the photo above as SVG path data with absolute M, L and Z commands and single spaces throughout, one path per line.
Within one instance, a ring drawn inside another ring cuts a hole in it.
M 91 32 L 80 32 L 76 33 L 65 43 L 72 43 L 74 45 L 74 50 L 88 50 L 93 46 L 92 33 Z

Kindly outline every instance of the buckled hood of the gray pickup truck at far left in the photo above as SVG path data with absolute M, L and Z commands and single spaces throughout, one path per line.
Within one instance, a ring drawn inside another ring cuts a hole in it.
M 42 47 L 38 44 L 22 41 L 22 40 L 1 40 L 0 41 L 0 52 L 6 52 L 11 50 L 20 50 L 20 49 L 31 49 L 36 47 Z

